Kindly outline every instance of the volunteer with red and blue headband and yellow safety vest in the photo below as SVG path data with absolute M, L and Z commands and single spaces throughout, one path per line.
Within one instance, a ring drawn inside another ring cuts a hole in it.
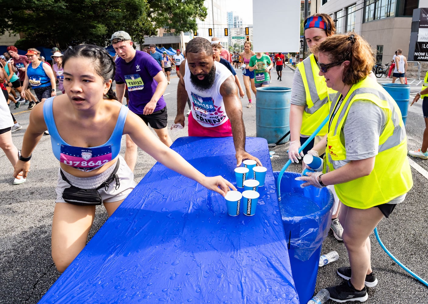
M 333 19 L 326 14 L 315 14 L 304 22 L 305 39 L 309 50 L 324 41 L 336 31 Z M 317 56 L 312 54 L 297 64 L 293 78 L 293 90 L 290 98 L 290 147 L 288 158 L 291 162 L 299 162 L 301 156 L 307 153 L 315 143 L 327 134 L 327 124 L 318 132 L 315 139 L 299 153 L 302 145 L 328 115 L 330 108 L 329 96 L 336 91 L 327 87 L 324 77 L 320 76 Z M 332 187 L 333 188 L 333 187 Z M 334 189 L 332 189 L 334 191 Z M 333 236 L 342 241 L 343 228 L 339 222 L 340 202 L 335 198 L 330 229 Z M 336 211 L 334 211 L 336 210 Z

